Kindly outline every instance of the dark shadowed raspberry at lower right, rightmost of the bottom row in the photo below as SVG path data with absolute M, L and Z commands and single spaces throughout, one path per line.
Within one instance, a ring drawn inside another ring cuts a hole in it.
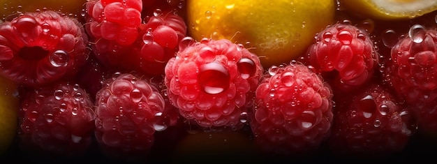
M 336 102 L 335 109 L 328 144 L 337 156 L 390 156 L 406 147 L 417 127 L 406 105 L 378 84 Z

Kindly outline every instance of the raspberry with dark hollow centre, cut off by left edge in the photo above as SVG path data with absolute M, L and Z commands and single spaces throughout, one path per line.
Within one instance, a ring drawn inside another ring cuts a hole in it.
M 87 60 L 87 35 L 71 17 L 51 10 L 0 24 L 1 74 L 30 86 L 75 75 Z

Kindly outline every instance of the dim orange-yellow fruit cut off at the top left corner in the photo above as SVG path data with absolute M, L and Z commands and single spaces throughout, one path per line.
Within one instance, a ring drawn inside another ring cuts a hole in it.
M 36 10 L 57 10 L 66 14 L 80 14 L 87 0 L 0 0 L 1 17 Z

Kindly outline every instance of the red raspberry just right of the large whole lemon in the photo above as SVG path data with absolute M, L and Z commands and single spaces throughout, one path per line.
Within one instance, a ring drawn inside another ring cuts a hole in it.
M 334 92 L 350 92 L 369 82 L 378 64 L 378 53 L 366 31 L 337 23 L 316 36 L 302 61 L 311 65 Z

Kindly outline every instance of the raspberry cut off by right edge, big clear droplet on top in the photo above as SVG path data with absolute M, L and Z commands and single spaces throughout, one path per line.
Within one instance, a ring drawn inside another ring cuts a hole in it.
M 437 31 L 417 24 L 410 33 L 392 47 L 383 78 L 412 106 L 419 130 L 437 136 Z

